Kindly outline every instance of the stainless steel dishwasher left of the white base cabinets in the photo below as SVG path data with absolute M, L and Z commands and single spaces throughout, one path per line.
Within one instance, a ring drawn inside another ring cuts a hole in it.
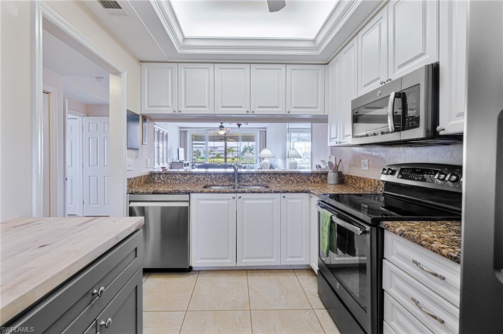
M 190 271 L 189 195 L 130 194 L 129 216 L 145 217 L 143 268 Z

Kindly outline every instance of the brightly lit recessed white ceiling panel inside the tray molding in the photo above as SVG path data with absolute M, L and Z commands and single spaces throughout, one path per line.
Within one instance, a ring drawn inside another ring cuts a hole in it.
M 266 0 L 172 1 L 185 37 L 314 39 L 337 0 L 288 0 L 269 13 Z

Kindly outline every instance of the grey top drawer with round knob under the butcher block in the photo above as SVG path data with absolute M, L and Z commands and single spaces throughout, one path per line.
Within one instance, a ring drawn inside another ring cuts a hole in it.
M 141 231 L 126 238 L 18 319 L 35 333 L 81 333 L 141 268 Z M 101 296 L 97 293 L 100 291 Z

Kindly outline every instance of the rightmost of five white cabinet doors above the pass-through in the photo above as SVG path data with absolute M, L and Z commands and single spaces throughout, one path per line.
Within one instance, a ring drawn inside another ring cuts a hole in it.
M 324 106 L 324 65 L 287 65 L 287 114 L 324 115 Z

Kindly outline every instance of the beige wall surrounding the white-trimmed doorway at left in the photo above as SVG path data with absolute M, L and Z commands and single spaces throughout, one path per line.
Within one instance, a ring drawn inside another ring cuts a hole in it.
M 139 112 L 138 59 L 82 4 L 74 1 L 46 4 L 127 70 L 127 107 Z M 0 2 L 2 220 L 32 214 L 32 5 L 31 2 Z

